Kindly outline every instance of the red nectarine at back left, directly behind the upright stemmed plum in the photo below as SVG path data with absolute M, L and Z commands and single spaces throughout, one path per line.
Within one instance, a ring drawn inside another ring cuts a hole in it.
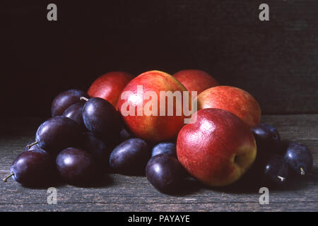
M 111 71 L 96 79 L 88 89 L 90 97 L 100 97 L 116 107 L 122 89 L 133 79 L 130 73 Z

